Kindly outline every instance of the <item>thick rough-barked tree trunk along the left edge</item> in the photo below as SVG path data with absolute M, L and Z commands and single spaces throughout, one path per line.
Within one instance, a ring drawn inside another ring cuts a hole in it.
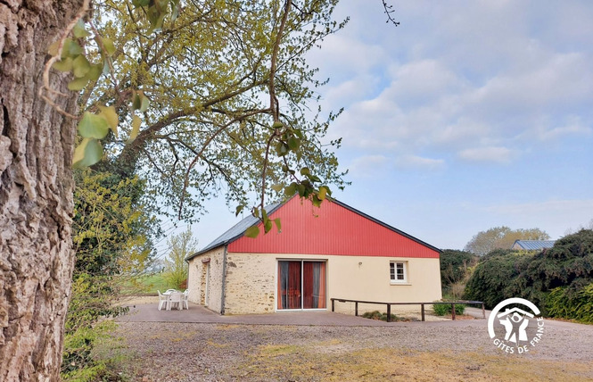
M 37 96 L 47 47 L 81 0 L 0 0 L 0 380 L 57 380 L 74 253 L 76 121 Z M 67 76 L 55 99 L 77 111 Z

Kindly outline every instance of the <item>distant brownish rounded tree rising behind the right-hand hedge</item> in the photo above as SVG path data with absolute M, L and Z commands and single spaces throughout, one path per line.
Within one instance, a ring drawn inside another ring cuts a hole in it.
M 548 240 L 546 231 L 539 228 L 511 229 L 507 226 L 494 227 L 478 232 L 465 245 L 464 250 L 483 256 L 495 249 L 510 249 L 515 240 Z

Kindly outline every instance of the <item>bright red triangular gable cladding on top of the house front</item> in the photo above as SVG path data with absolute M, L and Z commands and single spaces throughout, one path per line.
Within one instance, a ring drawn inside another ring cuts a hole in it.
M 270 218 L 280 218 L 282 232 L 274 227 L 264 235 L 260 223 L 259 237 L 239 237 L 228 252 L 439 258 L 432 245 L 337 201 L 316 208 L 293 197 Z

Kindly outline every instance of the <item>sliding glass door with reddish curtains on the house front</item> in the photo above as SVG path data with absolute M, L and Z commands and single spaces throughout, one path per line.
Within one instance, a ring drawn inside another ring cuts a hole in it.
M 278 310 L 325 309 L 325 262 L 278 261 Z

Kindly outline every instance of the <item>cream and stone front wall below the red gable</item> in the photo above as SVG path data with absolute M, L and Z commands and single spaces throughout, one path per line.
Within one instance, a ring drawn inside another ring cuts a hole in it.
M 265 313 L 276 310 L 277 260 L 327 262 L 329 298 L 379 302 L 431 302 L 441 299 L 439 259 L 299 254 L 228 253 L 226 313 Z M 408 263 L 408 283 L 391 284 L 390 262 Z M 190 267 L 191 268 L 191 267 Z M 212 273 L 210 273 L 211 275 Z M 416 305 L 393 307 L 394 312 L 420 311 Z M 385 311 L 384 305 L 360 305 L 364 311 Z M 336 303 L 336 311 L 354 313 L 354 303 Z

